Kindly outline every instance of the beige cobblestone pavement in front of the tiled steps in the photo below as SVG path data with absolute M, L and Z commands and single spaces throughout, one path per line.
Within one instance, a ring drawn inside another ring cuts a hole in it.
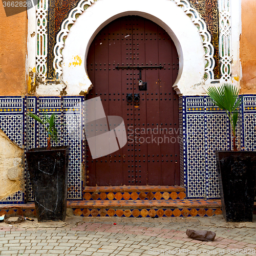
M 254 216 L 256 217 L 256 216 Z M 116 225 L 115 225 L 116 223 Z M 186 229 L 211 230 L 214 242 L 189 239 Z M 65 222 L 0 223 L 1 255 L 255 255 L 256 218 L 226 223 L 206 218 L 67 217 Z

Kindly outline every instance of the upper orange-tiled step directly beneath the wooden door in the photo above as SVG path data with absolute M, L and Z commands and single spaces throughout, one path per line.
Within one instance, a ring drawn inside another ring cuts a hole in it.
M 176 200 L 185 199 L 181 186 L 97 186 L 83 190 L 84 200 Z

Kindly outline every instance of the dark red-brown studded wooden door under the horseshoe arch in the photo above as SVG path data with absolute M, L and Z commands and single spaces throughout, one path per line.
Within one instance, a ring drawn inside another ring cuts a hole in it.
M 87 99 L 100 96 L 106 115 L 124 119 L 128 141 L 94 160 L 87 146 L 87 186 L 180 184 L 178 95 L 172 87 L 178 69 L 173 40 L 151 20 L 121 17 L 97 34 L 87 59 L 93 83 Z M 139 102 L 127 101 L 127 94 L 138 93 Z

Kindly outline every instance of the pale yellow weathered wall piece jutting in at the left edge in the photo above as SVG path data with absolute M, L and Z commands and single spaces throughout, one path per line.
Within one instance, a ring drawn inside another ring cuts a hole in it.
M 0 129 L 0 200 L 24 186 L 24 150 Z

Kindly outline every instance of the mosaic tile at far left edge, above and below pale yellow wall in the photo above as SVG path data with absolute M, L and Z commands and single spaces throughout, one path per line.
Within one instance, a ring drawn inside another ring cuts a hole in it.
M 0 129 L 19 147 L 24 146 L 24 98 L 0 97 Z M 24 202 L 24 190 L 20 189 L 0 204 Z

